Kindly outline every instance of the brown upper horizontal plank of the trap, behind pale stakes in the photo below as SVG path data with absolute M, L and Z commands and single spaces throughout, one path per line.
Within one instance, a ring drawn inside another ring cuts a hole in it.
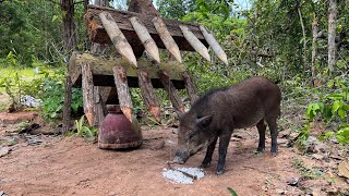
M 109 9 L 104 7 L 97 7 L 97 5 L 88 5 L 87 12 L 85 14 L 85 21 L 87 24 L 87 30 L 88 30 L 89 37 L 94 42 L 100 42 L 100 44 L 111 42 L 98 16 L 98 14 L 103 11 L 107 11 L 112 15 L 119 28 L 121 29 L 121 32 L 127 37 L 130 45 L 132 46 L 136 57 L 140 57 L 142 54 L 142 53 L 137 53 L 136 49 L 139 49 L 139 47 L 143 48 L 143 46 L 141 40 L 137 38 L 137 35 L 134 32 L 131 25 L 131 22 L 128 20 L 132 16 L 137 16 L 141 20 L 142 24 L 144 24 L 144 26 L 149 32 L 156 45 L 159 48 L 166 49 L 160 37 L 157 35 L 157 30 L 155 29 L 155 26 L 153 25 L 152 20 L 154 15 L 146 15 L 146 14 L 135 13 L 135 12 L 125 12 L 125 11 L 120 11 L 120 10 L 115 10 L 115 9 Z M 183 37 L 183 34 L 179 28 L 180 24 L 188 26 L 190 30 L 195 35 L 195 37 L 197 37 L 206 47 L 208 47 L 208 44 L 206 42 L 197 24 L 179 22 L 179 21 L 167 20 L 167 19 L 163 19 L 163 20 L 170 35 L 173 37 L 174 41 L 179 46 L 180 50 L 194 51 L 194 49 L 189 45 L 189 42 Z

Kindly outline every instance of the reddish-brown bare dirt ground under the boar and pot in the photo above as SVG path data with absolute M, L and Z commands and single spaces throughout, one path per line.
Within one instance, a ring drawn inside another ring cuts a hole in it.
M 321 166 L 286 145 L 279 146 L 277 157 L 270 157 L 269 139 L 266 152 L 254 155 L 257 146 L 255 128 L 236 131 L 227 155 L 226 172 L 216 175 L 217 149 L 205 176 L 191 185 L 174 184 L 164 179 L 166 162 L 173 159 L 177 136 L 174 128 L 143 128 L 143 145 L 134 150 L 103 150 L 96 143 L 81 137 L 61 135 L 11 135 L 11 126 L 0 128 L 0 142 L 9 139 L 11 151 L 0 157 L 0 195 L 229 195 L 227 187 L 238 195 L 327 195 L 328 188 L 347 186 L 345 180 L 333 175 L 336 183 L 318 177 L 303 180 L 302 186 L 288 185 L 300 177 L 294 160 Z M 29 143 L 29 139 L 39 143 Z M 282 140 L 282 139 L 280 139 Z M 284 139 L 285 140 L 285 139 Z M 164 147 L 159 144 L 164 144 Z M 204 151 L 189 159 L 184 166 L 198 167 Z M 301 184 L 301 183 L 299 183 Z

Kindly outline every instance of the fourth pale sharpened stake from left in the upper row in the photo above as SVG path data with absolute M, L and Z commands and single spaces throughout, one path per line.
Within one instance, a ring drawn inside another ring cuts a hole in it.
M 207 61 L 210 61 L 207 48 L 195 37 L 188 26 L 179 25 L 188 42 Z

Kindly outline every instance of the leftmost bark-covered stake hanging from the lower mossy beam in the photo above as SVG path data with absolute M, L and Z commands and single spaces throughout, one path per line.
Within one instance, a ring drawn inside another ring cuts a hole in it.
M 91 65 L 85 63 L 82 65 L 82 88 L 83 88 L 83 102 L 84 113 L 91 126 L 94 125 L 95 111 L 94 111 L 94 82 Z

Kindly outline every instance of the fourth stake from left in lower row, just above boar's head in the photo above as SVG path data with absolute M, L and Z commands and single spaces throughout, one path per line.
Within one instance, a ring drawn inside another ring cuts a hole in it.
M 165 87 L 165 89 L 168 94 L 169 99 L 172 102 L 172 106 L 176 109 L 177 114 L 183 114 L 184 113 L 183 102 L 180 99 L 178 91 L 177 91 L 174 85 L 172 84 L 172 82 L 170 81 L 168 74 L 164 70 L 160 70 L 158 72 L 158 76 L 159 76 L 159 79 L 160 79 L 163 86 Z

